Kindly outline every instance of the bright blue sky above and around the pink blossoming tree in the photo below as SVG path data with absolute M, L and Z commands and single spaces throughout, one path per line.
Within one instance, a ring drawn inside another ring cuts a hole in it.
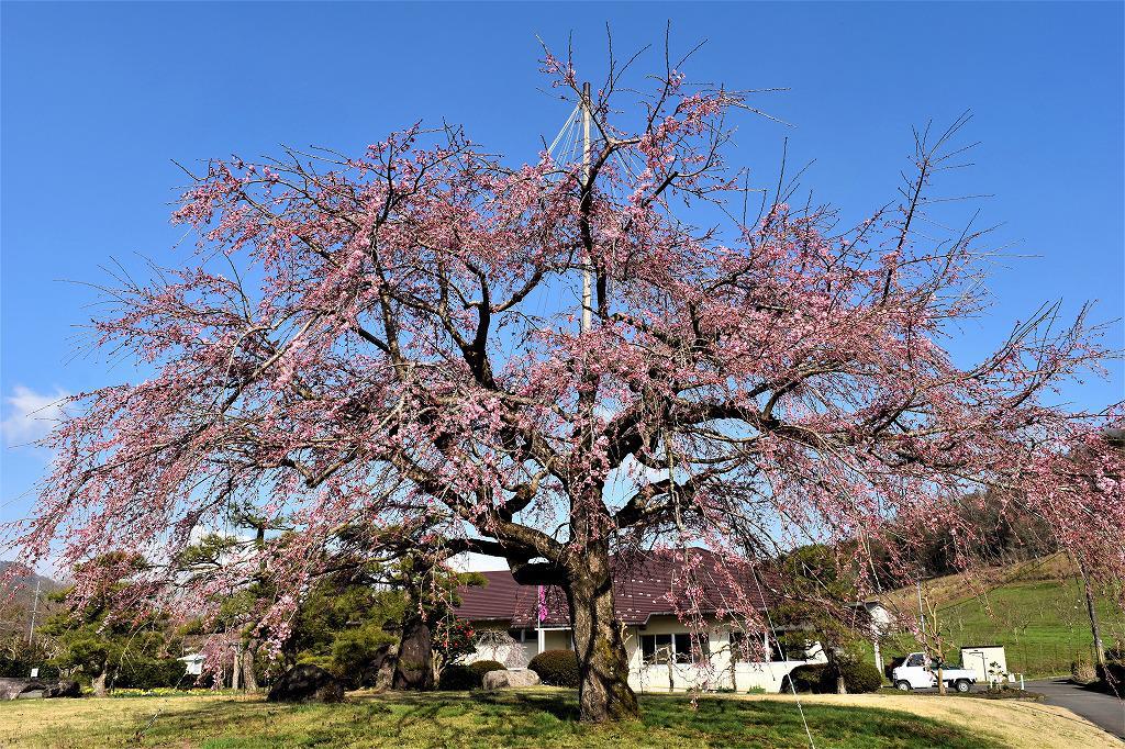
M 975 166 L 951 193 L 990 193 L 982 220 L 1008 245 L 997 304 L 954 342 L 971 359 L 1046 300 L 1095 318 L 1125 308 L 1122 3 L 748 4 L 2 4 L 0 520 L 24 515 L 58 394 L 135 379 L 84 353 L 82 323 L 117 259 L 183 261 L 170 202 L 192 163 L 278 144 L 358 151 L 422 119 L 533 157 L 569 107 L 542 90 L 536 35 L 574 33 L 579 72 L 604 73 L 605 22 L 626 54 L 708 44 L 690 79 L 789 87 L 759 100 L 795 125 L 747 118 L 736 161 L 762 183 L 782 139 L 817 197 L 858 216 L 894 198 L 910 128 L 974 118 Z M 657 70 L 656 53 L 639 70 Z M 179 254 L 178 254 L 179 253 Z M 142 272 L 143 276 L 143 272 Z M 75 337 L 78 335 L 78 337 Z M 1114 323 L 1109 343 L 1125 348 Z M 1125 391 L 1071 388 L 1078 406 Z M 32 414 L 36 409 L 37 414 Z M 37 418 L 38 416 L 39 418 Z

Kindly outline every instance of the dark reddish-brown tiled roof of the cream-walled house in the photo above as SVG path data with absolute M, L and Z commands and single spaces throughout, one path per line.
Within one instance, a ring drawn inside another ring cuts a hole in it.
M 700 589 L 703 613 L 722 615 L 752 606 L 758 611 L 772 604 L 774 594 L 763 590 L 746 561 L 717 554 L 706 549 L 688 549 L 686 559 L 676 552 L 650 551 L 614 557 L 612 560 L 613 602 L 618 619 L 624 624 L 645 624 L 657 614 L 675 614 L 690 607 L 685 588 Z M 457 615 L 476 622 L 511 622 L 513 628 L 537 624 L 539 586 L 520 585 L 510 571 L 483 572 L 488 585 L 458 590 L 461 605 Z M 544 586 L 547 626 L 570 623 L 566 595 Z

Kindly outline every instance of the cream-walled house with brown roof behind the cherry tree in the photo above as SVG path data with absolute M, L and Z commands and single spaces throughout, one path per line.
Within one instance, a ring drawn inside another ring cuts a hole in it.
M 747 612 L 768 621 L 776 585 L 747 562 L 706 549 L 619 554 L 613 599 L 638 692 L 762 688 L 778 692 L 798 666 L 825 662 L 820 644 L 783 652 L 766 631 L 746 631 Z M 483 572 L 488 584 L 465 587 L 457 614 L 483 633 L 475 657 L 524 667 L 544 650 L 574 649 L 562 592 L 520 585 L 510 571 Z M 488 637 L 506 632 L 510 637 Z

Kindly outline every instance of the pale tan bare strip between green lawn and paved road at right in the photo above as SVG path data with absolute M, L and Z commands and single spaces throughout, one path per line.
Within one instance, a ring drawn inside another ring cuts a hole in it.
M 791 695 L 747 695 L 739 700 L 784 700 Z M 1125 743 L 1074 713 L 1055 705 L 1017 700 L 979 700 L 937 695 L 818 694 L 804 704 L 821 703 L 901 710 L 990 734 L 1014 749 L 1123 749 Z M 816 737 L 813 737 L 816 739 Z

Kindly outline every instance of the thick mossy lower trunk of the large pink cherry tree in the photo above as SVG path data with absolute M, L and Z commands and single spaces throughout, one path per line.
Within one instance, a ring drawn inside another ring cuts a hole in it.
M 629 656 L 613 613 L 609 556 L 592 554 L 591 571 L 573 579 L 567 597 L 578 656 L 579 719 L 586 723 L 632 720 L 640 715 L 629 687 Z

